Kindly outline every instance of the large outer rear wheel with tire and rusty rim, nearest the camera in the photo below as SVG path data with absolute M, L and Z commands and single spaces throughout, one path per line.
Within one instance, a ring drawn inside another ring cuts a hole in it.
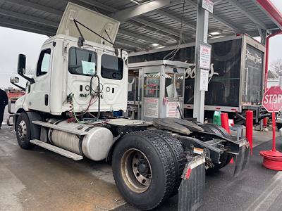
M 154 209 L 173 192 L 173 157 L 166 142 L 152 132 L 123 136 L 114 148 L 112 168 L 123 198 L 140 210 Z

